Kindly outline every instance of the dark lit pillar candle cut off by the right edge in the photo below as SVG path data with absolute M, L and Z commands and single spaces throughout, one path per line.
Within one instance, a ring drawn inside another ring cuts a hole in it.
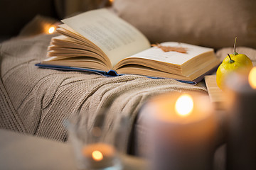
M 256 169 L 256 67 L 226 81 L 228 169 Z

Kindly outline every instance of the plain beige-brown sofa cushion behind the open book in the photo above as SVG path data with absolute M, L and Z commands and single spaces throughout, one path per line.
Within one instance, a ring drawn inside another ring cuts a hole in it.
M 256 48 L 254 0 L 115 0 L 114 11 L 151 42 L 178 41 L 213 48 Z

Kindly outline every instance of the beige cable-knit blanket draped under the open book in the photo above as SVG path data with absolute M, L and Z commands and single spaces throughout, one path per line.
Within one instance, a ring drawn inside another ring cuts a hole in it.
M 79 114 L 90 129 L 100 108 L 108 108 L 104 134 L 112 136 L 124 129 L 125 118 L 125 148 L 140 108 L 152 96 L 186 90 L 207 94 L 204 82 L 194 86 L 172 79 L 38 68 L 34 64 L 46 57 L 51 37 L 15 38 L 0 44 L 0 128 L 65 141 L 65 119 Z

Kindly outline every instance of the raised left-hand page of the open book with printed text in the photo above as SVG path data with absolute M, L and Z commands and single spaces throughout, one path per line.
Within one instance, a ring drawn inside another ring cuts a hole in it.
M 105 8 L 63 20 L 80 35 L 105 52 L 112 67 L 119 60 L 150 47 L 149 40 L 132 25 Z

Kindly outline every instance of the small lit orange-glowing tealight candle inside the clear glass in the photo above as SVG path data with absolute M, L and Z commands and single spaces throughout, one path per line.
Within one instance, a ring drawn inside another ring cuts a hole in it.
M 105 143 L 95 143 L 82 148 L 86 169 L 121 169 L 114 147 Z

